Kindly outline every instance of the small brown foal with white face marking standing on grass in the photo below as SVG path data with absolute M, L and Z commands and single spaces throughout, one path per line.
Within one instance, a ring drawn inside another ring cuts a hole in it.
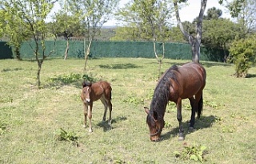
M 86 117 L 88 115 L 88 118 L 90 119 L 89 132 L 93 131 L 91 127 L 91 118 L 92 118 L 94 101 L 101 100 L 105 107 L 103 121 L 106 120 L 107 107 L 109 108 L 109 111 L 110 111 L 109 125 L 111 124 L 111 111 L 112 111 L 111 91 L 112 91 L 112 88 L 110 84 L 106 81 L 99 81 L 93 84 L 86 81 L 82 83 L 81 99 L 84 106 L 84 116 L 85 116 L 84 127 L 86 127 Z

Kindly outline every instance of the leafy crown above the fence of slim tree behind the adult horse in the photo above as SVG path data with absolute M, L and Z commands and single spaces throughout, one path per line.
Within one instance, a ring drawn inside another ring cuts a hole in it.
M 118 10 L 116 18 L 122 22 L 115 38 L 131 41 L 167 41 L 170 37 L 170 22 L 173 6 L 168 0 L 134 0 Z M 129 30 L 129 31 L 127 31 Z

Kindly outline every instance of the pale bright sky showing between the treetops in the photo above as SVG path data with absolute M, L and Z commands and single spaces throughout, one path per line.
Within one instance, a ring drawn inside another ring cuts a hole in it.
M 127 2 L 130 0 L 120 0 L 119 7 L 124 6 Z M 194 18 L 198 17 L 199 11 L 200 11 L 200 3 L 201 0 L 190 0 L 188 1 L 189 5 L 186 7 L 183 7 L 182 10 L 179 10 L 181 21 L 193 21 Z M 208 9 L 216 7 L 217 9 L 222 10 L 222 18 L 231 18 L 230 14 L 226 10 L 224 6 L 221 6 L 218 4 L 218 0 L 208 0 L 206 5 L 205 14 Z M 58 4 L 55 4 L 54 10 L 51 12 L 51 14 L 54 14 L 54 11 L 58 10 L 60 6 Z M 49 18 L 50 19 L 50 18 Z M 111 19 L 107 21 L 104 26 L 114 26 L 117 25 L 117 21 L 114 19 Z

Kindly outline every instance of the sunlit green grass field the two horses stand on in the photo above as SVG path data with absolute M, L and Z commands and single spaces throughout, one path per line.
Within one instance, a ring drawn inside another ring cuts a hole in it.
M 186 61 L 165 59 L 162 72 Z M 182 101 L 185 140 L 178 142 L 174 103 L 166 108 L 162 141 L 150 142 L 146 112 L 158 80 L 155 59 L 104 58 L 88 61 L 87 77 L 112 85 L 112 129 L 94 103 L 93 133 L 82 127 L 83 60 L 47 60 L 42 89 L 34 61 L 0 61 L 0 163 L 198 163 L 185 147 L 206 146 L 204 163 L 256 163 L 256 68 L 250 78 L 232 76 L 230 64 L 202 61 L 206 68 L 204 110 L 187 133 L 188 100 Z M 108 115 L 107 115 L 108 118 Z M 78 137 L 60 141 L 61 128 Z M 174 157 L 180 152 L 181 157 Z M 182 158 L 183 157 L 183 158 Z

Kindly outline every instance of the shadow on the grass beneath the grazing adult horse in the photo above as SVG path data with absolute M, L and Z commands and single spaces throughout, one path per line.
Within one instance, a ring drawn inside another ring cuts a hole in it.
M 196 119 L 196 122 L 194 123 L 194 131 L 198 131 L 198 129 L 208 128 L 211 127 L 211 125 L 217 120 L 218 118 L 214 115 L 210 116 L 201 116 L 200 119 Z M 177 121 L 178 124 L 178 121 Z M 189 131 L 189 123 L 182 123 L 182 126 L 184 128 L 184 138 L 186 139 L 186 135 L 189 135 L 190 133 L 193 133 L 194 131 Z M 178 127 L 174 128 L 172 131 L 167 132 L 166 134 L 161 136 L 161 140 L 167 140 L 170 138 L 178 137 Z

